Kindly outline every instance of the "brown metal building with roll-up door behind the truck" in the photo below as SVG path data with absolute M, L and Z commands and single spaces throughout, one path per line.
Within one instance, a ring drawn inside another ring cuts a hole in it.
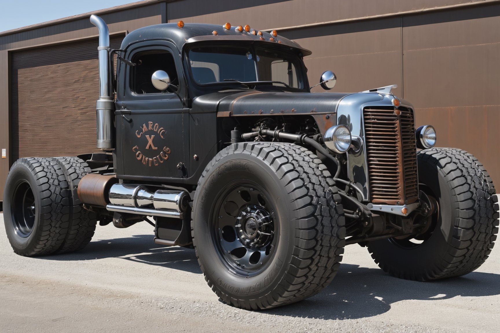
M 500 182 L 500 0 L 144 0 L 92 13 L 116 47 L 128 31 L 178 20 L 275 28 L 313 52 L 310 82 L 330 69 L 333 91 L 397 84 L 438 146 L 471 152 Z M 90 14 L 0 32 L 0 201 L 17 158 L 96 151 Z

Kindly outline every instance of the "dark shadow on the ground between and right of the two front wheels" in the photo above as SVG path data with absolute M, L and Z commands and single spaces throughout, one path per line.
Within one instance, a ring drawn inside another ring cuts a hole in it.
M 394 278 L 377 268 L 341 264 L 336 277 L 318 295 L 268 313 L 325 320 L 360 319 L 383 314 L 403 300 L 433 302 L 499 294 L 498 274 L 472 272 L 458 278 L 416 282 Z

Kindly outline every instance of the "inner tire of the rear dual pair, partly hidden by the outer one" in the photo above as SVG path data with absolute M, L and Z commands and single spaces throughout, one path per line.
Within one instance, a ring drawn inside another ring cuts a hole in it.
M 69 190 L 69 225 L 62 246 L 58 252 L 73 252 L 83 249 L 92 239 L 97 223 L 97 215 L 83 208 L 78 199 L 77 186 L 80 179 L 90 172 L 88 164 L 78 157 L 55 157 L 67 180 Z

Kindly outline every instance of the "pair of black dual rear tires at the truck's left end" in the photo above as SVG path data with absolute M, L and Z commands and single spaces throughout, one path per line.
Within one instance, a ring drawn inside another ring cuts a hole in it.
M 16 254 L 72 252 L 88 244 L 96 215 L 83 209 L 75 189 L 89 171 L 77 157 L 14 162 L 5 183 L 3 220 Z

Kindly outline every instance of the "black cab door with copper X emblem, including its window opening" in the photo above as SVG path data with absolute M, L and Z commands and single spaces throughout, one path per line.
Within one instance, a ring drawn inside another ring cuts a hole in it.
M 122 179 L 185 178 L 189 170 L 188 109 L 178 95 L 185 88 L 176 47 L 167 41 L 148 41 L 127 50 L 123 84 L 117 89 L 117 174 Z M 156 89 L 156 70 L 170 77 L 167 90 Z M 177 95 L 177 94 L 178 95 Z

